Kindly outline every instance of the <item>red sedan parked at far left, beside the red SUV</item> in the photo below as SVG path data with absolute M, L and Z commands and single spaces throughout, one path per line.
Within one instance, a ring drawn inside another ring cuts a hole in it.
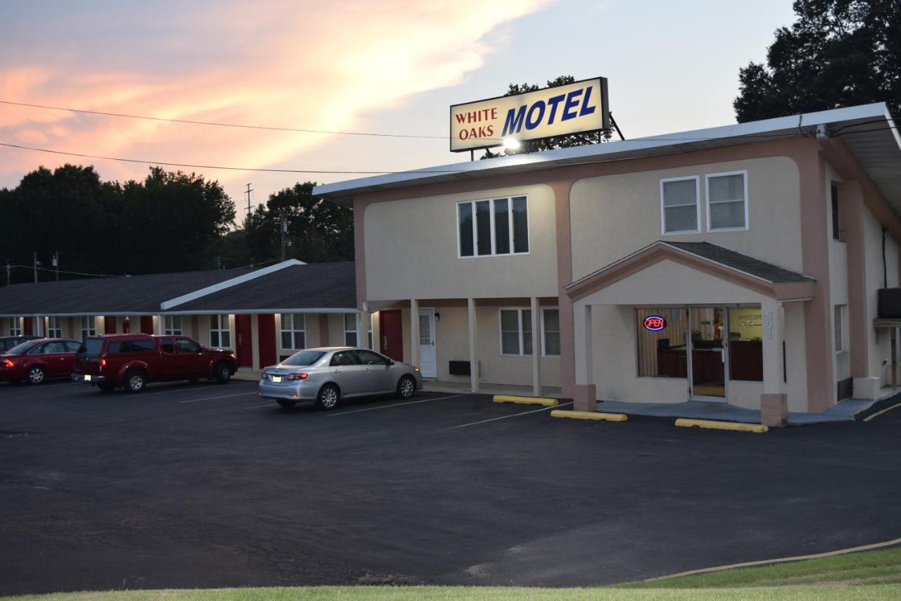
M 23 342 L 0 355 L 0 380 L 41 384 L 46 378 L 68 376 L 79 346 L 81 342 L 65 338 Z

